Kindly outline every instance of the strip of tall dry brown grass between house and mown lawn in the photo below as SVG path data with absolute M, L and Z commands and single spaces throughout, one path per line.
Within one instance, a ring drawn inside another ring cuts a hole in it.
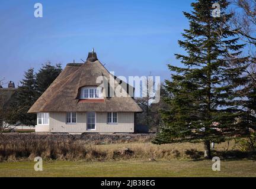
M 0 160 L 33 160 L 34 157 L 56 160 L 116 161 L 116 160 L 171 160 L 200 159 L 202 144 L 153 145 L 151 135 L 36 135 L 7 134 L 0 138 Z M 123 153 L 122 149 L 130 149 Z M 237 151 L 235 143 L 216 144 L 213 155 L 223 158 L 254 159 L 253 154 Z M 242 153 L 242 154 L 241 154 Z

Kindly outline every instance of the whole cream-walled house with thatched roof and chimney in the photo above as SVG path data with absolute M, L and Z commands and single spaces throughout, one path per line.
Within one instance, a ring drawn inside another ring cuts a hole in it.
M 134 88 L 105 69 L 92 51 L 85 63 L 69 63 L 28 113 L 37 113 L 36 132 L 52 133 L 133 133 L 136 113 L 142 112 L 133 97 L 117 97 L 100 88 L 98 77 L 105 77 L 108 88 Z

